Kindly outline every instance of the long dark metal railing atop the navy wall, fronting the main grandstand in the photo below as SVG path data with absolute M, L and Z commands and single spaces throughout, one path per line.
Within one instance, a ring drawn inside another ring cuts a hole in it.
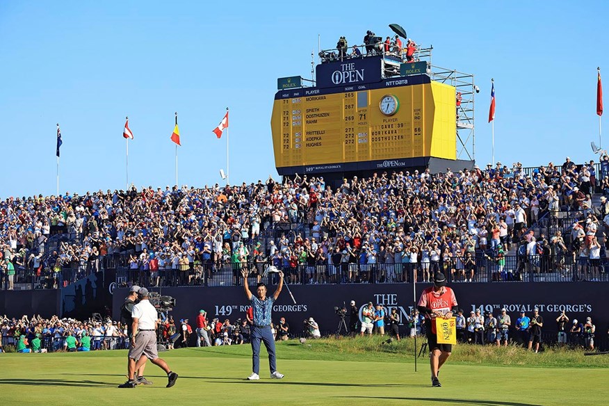
M 279 265 L 289 284 L 394 284 L 429 282 L 441 271 L 448 282 L 609 282 L 609 263 L 596 266 L 588 259 L 564 255 L 508 255 L 504 264 L 480 252 L 474 256 L 454 257 L 448 261 L 423 263 L 322 263 Z M 240 286 L 241 271 L 250 273 L 250 284 L 277 283 L 277 275 L 263 277 L 268 263 L 193 263 L 156 271 L 119 268 L 118 286 L 137 284 L 147 287 L 165 286 Z

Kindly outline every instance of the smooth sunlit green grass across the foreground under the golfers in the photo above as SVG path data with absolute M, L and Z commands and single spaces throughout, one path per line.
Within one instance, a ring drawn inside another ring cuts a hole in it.
M 152 386 L 117 389 L 125 380 L 124 350 L 1 354 L 0 399 L 3 405 L 110 401 L 119 406 L 136 401 L 138 405 L 517 406 L 580 405 L 584 391 L 585 403 L 602 405 L 609 396 L 606 355 L 586 357 L 595 359 L 592 368 L 578 362 L 576 368 L 547 368 L 460 362 L 455 350 L 454 362 L 451 359 L 440 374 L 443 387 L 432 388 L 427 358 L 419 358 L 418 372 L 414 372 L 412 355 L 381 350 L 360 353 L 341 350 L 341 345 L 332 341 L 307 341 L 304 346 L 293 341 L 278 343 L 278 368 L 286 377 L 270 379 L 263 351 L 257 382 L 245 380 L 251 373 L 249 346 L 161 352 L 179 374 L 171 389 L 165 388 L 165 373 L 150 363 L 145 375 L 154 381 Z

